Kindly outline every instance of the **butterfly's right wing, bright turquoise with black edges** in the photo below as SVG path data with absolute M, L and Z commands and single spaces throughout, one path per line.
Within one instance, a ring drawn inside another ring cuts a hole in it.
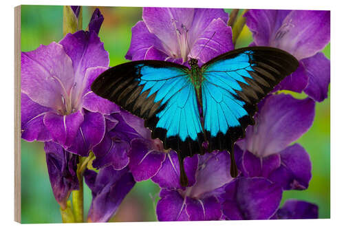
M 217 56 L 202 66 L 202 105 L 209 151 L 232 151 L 243 138 L 256 105 L 299 65 L 272 47 L 246 47 Z

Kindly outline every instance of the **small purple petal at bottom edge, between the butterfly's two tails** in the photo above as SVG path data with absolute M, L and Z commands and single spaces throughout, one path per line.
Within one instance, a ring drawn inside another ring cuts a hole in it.
M 186 214 L 191 221 L 219 220 L 221 218 L 221 204 L 216 197 L 193 199 L 186 197 Z

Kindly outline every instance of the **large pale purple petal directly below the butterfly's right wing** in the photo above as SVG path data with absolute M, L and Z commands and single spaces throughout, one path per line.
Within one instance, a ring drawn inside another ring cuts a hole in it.
M 246 138 L 237 142 L 243 150 L 259 157 L 278 153 L 311 127 L 314 101 L 298 100 L 290 95 L 268 96 L 259 106 L 255 126 L 246 129 Z

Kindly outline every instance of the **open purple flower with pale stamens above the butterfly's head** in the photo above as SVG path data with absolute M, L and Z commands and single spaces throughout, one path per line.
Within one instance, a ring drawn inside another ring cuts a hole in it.
M 200 65 L 233 50 L 228 14 L 222 9 L 143 8 L 143 21 L 132 28 L 125 56 L 131 61 L 160 60 Z

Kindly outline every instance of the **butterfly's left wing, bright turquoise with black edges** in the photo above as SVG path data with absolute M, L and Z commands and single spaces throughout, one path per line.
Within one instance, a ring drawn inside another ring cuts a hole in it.
M 98 76 L 92 91 L 144 118 L 152 138 L 178 151 L 181 161 L 202 149 L 200 112 L 187 67 L 165 61 L 117 65 Z

